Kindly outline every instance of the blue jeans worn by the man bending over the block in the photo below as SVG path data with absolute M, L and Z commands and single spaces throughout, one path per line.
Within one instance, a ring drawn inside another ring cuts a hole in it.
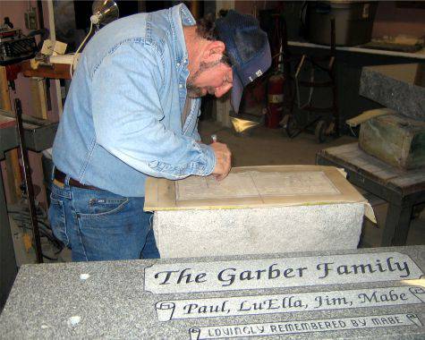
M 55 236 L 72 249 L 72 261 L 159 258 L 143 197 L 66 183 L 52 183 L 48 218 Z

